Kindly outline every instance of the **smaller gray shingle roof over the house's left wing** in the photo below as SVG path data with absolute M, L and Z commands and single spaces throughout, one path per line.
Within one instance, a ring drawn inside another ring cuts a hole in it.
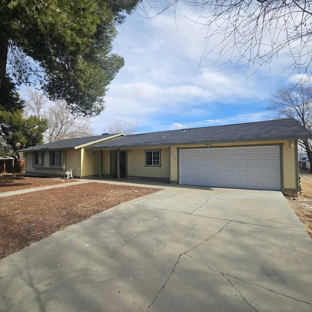
M 59 140 L 56 142 L 28 147 L 28 148 L 20 150 L 19 152 L 74 149 L 76 146 L 80 146 L 80 145 L 88 144 L 88 143 L 92 144 L 92 142 L 95 142 L 97 140 L 104 139 L 104 138 L 109 138 L 112 136 L 115 136 L 115 135 L 105 134 L 105 135 L 93 136 L 93 137 L 69 138 L 69 139 Z

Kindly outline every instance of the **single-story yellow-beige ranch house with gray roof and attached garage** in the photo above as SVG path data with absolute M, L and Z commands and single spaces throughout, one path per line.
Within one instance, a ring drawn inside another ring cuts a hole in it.
M 54 143 L 49 143 L 22 151 L 27 173 L 64 174 L 69 167 L 75 173 L 80 167 L 79 177 L 124 176 L 291 193 L 298 191 L 300 138 L 312 138 L 312 133 L 294 119 L 279 119 L 107 135 L 81 144 L 75 148 L 80 149 L 78 154 L 72 144 L 76 139 L 54 142 L 53 148 Z

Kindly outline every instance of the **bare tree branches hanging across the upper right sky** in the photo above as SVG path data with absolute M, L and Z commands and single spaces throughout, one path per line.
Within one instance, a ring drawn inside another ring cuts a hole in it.
M 150 7 L 153 2 L 147 1 Z M 206 29 L 200 66 L 210 56 L 215 59 L 213 64 L 231 62 L 259 68 L 270 66 L 273 58 L 284 53 L 291 63 L 282 71 L 311 73 L 312 1 L 168 0 L 158 14 L 168 9 L 176 14 L 178 4 L 195 8 L 199 13 L 194 23 Z M 151 15 L 146 5 L 141 10 Z

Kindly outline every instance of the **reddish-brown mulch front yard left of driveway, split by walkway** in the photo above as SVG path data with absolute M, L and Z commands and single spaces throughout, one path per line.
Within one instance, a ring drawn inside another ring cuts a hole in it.
M 11 181 L 10 186 L 1 185 L 0 190 L 3 192 L 3 189 L 9 188 L 13 191 L 25 188 L 25 185 L 35 187 L 62 183 L 56 178 L 25 178 Z M 0 259 L 71 224 L 81 222 L 122 202 L 159 190 L 91 182 L 2 197 Z

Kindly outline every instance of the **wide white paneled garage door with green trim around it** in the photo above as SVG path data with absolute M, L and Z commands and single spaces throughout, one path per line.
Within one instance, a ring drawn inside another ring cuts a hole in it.
M 279 146 L 181 149 L 179 163 L 180 184 L 281 189 Z

